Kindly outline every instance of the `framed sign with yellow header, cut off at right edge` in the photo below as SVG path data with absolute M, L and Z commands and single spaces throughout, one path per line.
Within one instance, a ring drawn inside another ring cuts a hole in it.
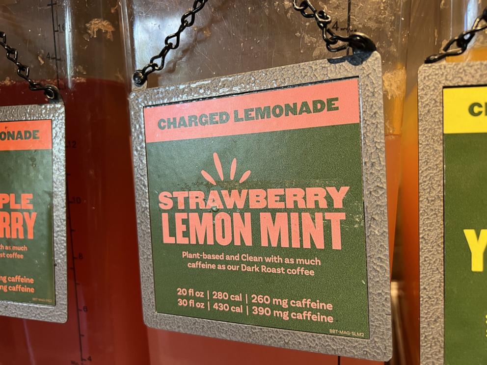
M 487 361 L 486 70 L 419 72 L 422 364 Z

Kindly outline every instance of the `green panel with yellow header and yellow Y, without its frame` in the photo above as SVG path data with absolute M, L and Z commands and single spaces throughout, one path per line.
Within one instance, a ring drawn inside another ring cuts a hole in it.
M 445 364 L 487 363 L 487 87 L 445 88 Z

